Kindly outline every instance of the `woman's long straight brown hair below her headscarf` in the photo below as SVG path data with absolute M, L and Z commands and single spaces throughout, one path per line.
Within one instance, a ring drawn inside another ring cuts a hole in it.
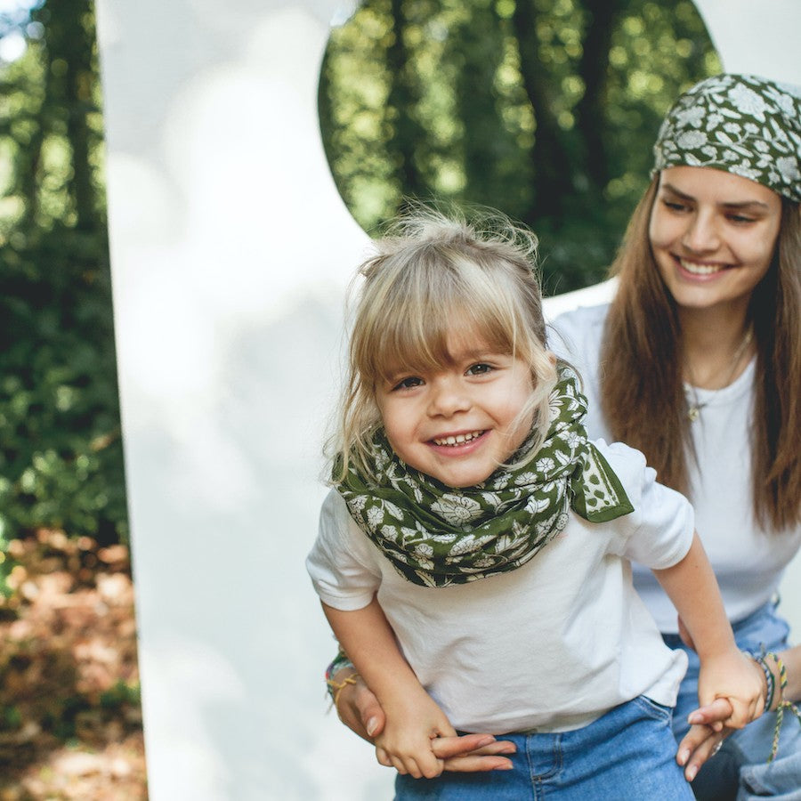
M 615 439 L 642 450 L 659 481 L 692 499 L 681 327 L 648 238 L 658 181 L 637 205 L 611 267 L 619 287 L 603 335 L 601 403 Z M 801 207 L 784 198 L 776 253 L 749 315 L 757 352 L 754 514 L 782 530 L 801 522 Z

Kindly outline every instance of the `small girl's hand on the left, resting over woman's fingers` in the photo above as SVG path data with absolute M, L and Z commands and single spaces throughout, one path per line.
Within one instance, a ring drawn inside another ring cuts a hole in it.
M 415 779 L 439 776 L 444 761 L 434 755 L 431 741 L 456 731 L 431 696 L 421 687 L 385 703 L 384 712 L 386 725 L 375 740 L 378 762 Z

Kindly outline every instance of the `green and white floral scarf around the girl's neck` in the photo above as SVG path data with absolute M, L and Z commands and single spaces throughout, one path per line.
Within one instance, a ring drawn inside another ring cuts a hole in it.
M 360 529 L 413 584 L 447 587 L 514 570 L 564 530 L 570 509 L 592 522 L 634 510 L 587 441 L 587 399 L 565 364 L 549 404 L 543 446 L 524 465 L 498 467 L 474 487 L 448 487 L 414 470 L 379 432 L 372 449 L 376 479 L 351 466 L 337 490 Z

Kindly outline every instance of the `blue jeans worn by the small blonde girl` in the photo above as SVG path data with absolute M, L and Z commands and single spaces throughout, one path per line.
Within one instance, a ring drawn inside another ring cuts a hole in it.
M 504 734 L 511 771 L 398 776 L 395 801 L 692 801 L 676 765 L 671 710 L 640 696 L 556 734 Z

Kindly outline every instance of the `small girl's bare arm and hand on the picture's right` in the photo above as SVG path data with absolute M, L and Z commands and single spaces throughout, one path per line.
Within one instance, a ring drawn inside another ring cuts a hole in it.
M 700 706 L 726 699 L 732 714 L 724 724 L 741 729 L 760 716 L 765 705 L 765 676 L 753 659 L 734 642 L 715 574 L 698 534 L 684 559 L 666 570 L 654 570 L 676 606 L 700 659 Z

